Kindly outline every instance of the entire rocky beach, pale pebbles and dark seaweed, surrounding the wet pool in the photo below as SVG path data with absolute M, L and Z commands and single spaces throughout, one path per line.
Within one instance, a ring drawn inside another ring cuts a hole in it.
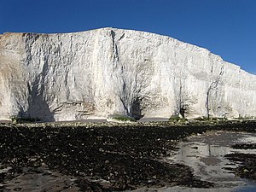
M 125 191 L 166 186 L 214 189 L 216 183 L 195 177 L 191 167 L 166 162 L 177 151 L 179 141 L 205 131 L 256 132 L 256 122 L 1 124 L 0 189 Z M 233 147 L 255 148 L 255 145 Z M 229 154 L 226 158 L 242 162 L 233 170 L 236 175 L 255 179 L 255 154 Z

